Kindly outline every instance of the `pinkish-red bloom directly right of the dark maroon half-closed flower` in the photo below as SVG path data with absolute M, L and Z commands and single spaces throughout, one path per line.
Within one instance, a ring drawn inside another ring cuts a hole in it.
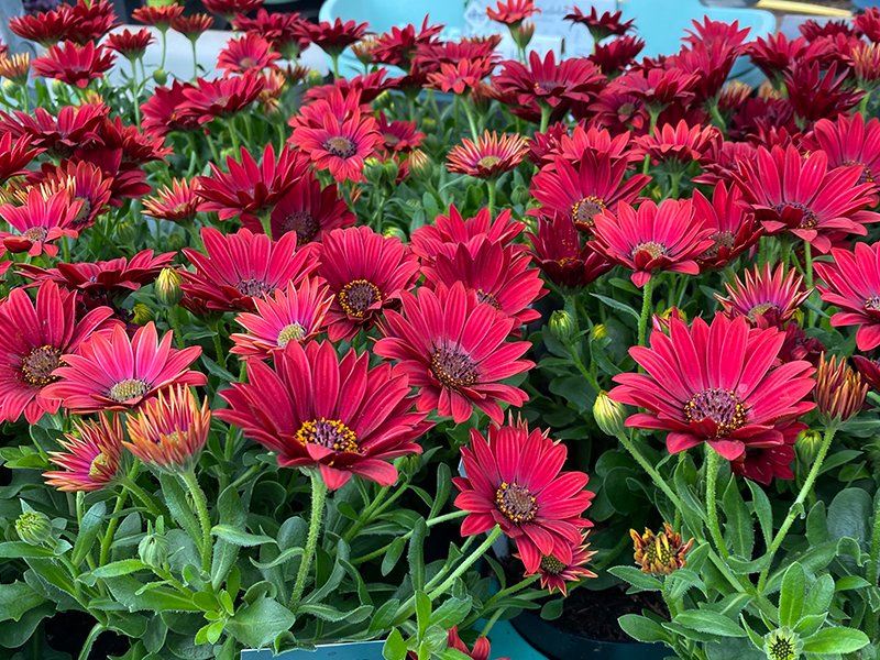
M 638 286 L 659 271 L 696 275 L 696 257 L 712 248 L 712 229 L 694 219 L 689 199 L 667 199 L 658 207 L 642 201 L 638 210 L 626 202 L 617 205 L 617 213 L 605 211 L 595 217 L 595 240 L 590 248 L 632 271 Z

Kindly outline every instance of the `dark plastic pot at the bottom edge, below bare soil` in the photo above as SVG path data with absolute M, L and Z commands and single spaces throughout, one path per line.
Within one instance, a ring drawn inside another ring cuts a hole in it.
M 524 612 L 510 623 L 549 660 L 662 660 L 670 654 L 660 644 L 603 641 L 564 632 L 531 612 Z

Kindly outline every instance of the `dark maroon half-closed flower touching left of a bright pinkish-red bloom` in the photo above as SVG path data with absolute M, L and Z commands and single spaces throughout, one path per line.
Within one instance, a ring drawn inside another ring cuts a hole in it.
M 538 232 L 528 234 L 532 254 L 544 275 L 559 286 L 583 288 L 614 267 L 587 248 L 571 217 L 541 217 Z

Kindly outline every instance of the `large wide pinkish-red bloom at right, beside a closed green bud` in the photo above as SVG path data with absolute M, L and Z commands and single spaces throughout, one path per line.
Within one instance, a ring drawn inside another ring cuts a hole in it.
M 614 400 L 646 408 L 627 426 L 668 431 L 667 449 L 678 453 L 707 442 L 727 460 L 750 446 L 783 443 L 777 425 L 811 410 L 813 366 L 795 360 L 773 366 L 785 336 L 773 328 L 751 330 L 743 318 L 716 315 L 692 328 L 669 319 L 669 336 L 651 333 L 651 348 L 634 346 L 647 373 L 619 374 Z

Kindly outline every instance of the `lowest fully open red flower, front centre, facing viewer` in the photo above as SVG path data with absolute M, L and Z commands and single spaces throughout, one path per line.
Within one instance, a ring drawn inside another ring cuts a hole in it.
M 535 573 L 541 558 L 574 560 L 583 518 L 593 493 L 582 472 L 561 472 L 568 450 L 540 429 L 525 425 L 491 426 L 484 438 L 471 429 L 470 447 L 461 450 L 463 473 L 452 480 L 461 493 L 455 506 L 469 513 L 462 536 L 499 525 L 516 541 L 526 572 Z

